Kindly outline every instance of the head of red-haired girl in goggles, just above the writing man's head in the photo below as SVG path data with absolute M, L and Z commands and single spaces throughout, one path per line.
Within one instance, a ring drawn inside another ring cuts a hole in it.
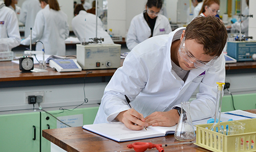
M 205 0 L 199 12 L 200 16 L 216 16 L 220 12 L 219 0 Z

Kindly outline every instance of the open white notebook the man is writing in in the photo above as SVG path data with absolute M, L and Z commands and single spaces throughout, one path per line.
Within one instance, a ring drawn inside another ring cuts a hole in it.
M 148 126 L 146 130 L 134 131 L 126 128 L 123 123 L 99 123 L 99 124 L 86 124 L 83 125 L 83 129 L 104 136 L 106 138 L 124 142 L 131 140 L 139 140 L 146 138 L 162 137 L 167 134 L 174 134 L 176 125 L 165 126 Z

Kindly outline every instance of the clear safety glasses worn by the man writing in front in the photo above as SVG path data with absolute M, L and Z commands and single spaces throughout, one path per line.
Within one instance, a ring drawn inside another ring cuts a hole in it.
M 209 62 L 203 62 L 195 58 L 193 55 L 191 55 L 187 48 L 185 47 L 185 37 L 183 38 L 181 45 L 179 47 L 179 54 L 180 57 L 183 58 L 187 63 L 194 63 L 194 66 L 199 69 L 208 69 L 211 67 L 215 60 L 217 59 L 216 57 Z

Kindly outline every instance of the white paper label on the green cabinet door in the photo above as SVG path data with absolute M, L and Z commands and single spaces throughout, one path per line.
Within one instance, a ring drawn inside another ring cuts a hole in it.
M 57 117 L 62 122 L 70 125 L 70 126 L 82 126 L 83 125 L 83 115 L 69 115 L 69 116 L 61 116 Z M 68 128 L 69 126 L 56 120 L 57 121 L 57 128 Z

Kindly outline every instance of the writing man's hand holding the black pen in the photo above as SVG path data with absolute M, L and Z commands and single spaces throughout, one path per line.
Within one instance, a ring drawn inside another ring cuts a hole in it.
M 120 112 L 115 120 L 124 123 L 124 125 L 131 130 L 142 130 L 144 126 L 148 126 L 143 115 L 134 109 Z

